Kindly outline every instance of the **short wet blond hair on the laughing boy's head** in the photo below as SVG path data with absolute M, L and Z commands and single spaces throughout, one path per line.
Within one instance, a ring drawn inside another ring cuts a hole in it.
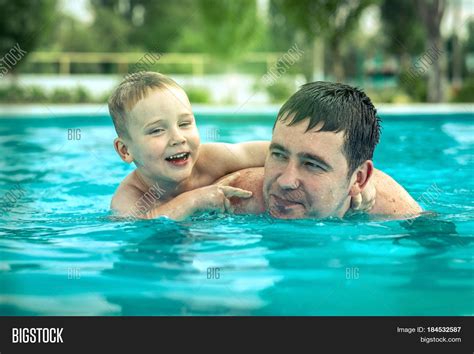
M 142 71 L 127 75 L 109 98 L 109 113 L 119 137 L 128 137 L 127 114 L 138 101 L 145 98 L 153 89 L 180 87 L 171 78 L 151 72 Z

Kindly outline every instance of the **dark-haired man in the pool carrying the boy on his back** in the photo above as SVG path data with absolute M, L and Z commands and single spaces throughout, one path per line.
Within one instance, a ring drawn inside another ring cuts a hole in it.
M 377 194 L 369 214 L 420 213 L 403 187 L 374 169 L 380 138 L 376 113 L 369 97 L 351 86 L 320 81 L 302 86 L 278 113 L 264 169 L 242 170 L 232 182 L 253 193 L 250 199 L 231 198 L 234 212 L 344 217 L 351 197 L 373 179 Z

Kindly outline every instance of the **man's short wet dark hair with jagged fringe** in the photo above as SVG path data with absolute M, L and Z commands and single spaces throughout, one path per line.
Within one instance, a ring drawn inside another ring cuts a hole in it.
M 372 159 L 380 139 L 380 119 L 363 91 L 325 81 L 305 84 L 281 107 L 275 125 L 281 121 L 291 126 L 305 119 L 309 120 L 306 131 L 320 122 L 323 126 L 319 131 L 344 131 L 343 152 L 349 176 L 364 161 Z

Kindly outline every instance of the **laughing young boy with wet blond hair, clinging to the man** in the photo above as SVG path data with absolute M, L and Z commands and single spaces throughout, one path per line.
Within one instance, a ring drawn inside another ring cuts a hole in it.
M 229 186 L 238 174 L 213 183 L 231 172 L 262 167 L 269 142 L 200 145 L 191 104 L 172 79 L 154 72 L 130 75 L 109 99 L 109 112 L 118 135 L 115 150 L 137 167 L 112 198 L 116 214 L 180 220 L 199 211 L 225 211 L 230 197 L 252 196 Z M 368 192 L 365 199 L 362 208 L 373 204 L 374 196 Z

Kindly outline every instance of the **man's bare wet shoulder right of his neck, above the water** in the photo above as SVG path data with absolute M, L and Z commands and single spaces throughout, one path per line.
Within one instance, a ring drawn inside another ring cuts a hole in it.
M 377 195 L 370 214 L 400 217 L 422 212 L 418 203 L 392 177 L 375 169 L 373 179 Z

